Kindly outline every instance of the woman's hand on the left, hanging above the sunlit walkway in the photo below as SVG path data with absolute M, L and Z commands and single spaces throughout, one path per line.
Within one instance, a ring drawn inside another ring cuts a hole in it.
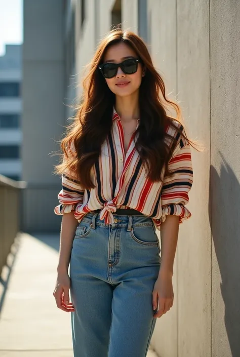
M 57 307 L 66 312 L 73 312 L 75 309 L 72 303 L 69 301 L 69 289 L 70 277 L 68 273 L 58 273 L 57 282 L 53 293 Z

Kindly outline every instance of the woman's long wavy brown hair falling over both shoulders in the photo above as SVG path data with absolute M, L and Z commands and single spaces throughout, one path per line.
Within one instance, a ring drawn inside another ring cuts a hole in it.
M 115 94 L 108 88 L 98 65 L 103 62 L 106 50 L 111 45 L 121 42 L 136 52 L 146 68 L 139 88 L 140 125 L 136 130 L 136 134 L 139 133 L 136 150 L 147 168 L 149 179 L 153 182 L 163 180 L 161 175 L 163 168 L 165 168 L 165 175 L 172 176 L 168 163 L 181 135 L 186 140 L 185 143 L 195 145 L 187 138 L 181 121 L 180 107 L 167 98 L 164 81 L 154 68 L 142 39 L 132 31 L 112 30 L 101 41 L 89 64 L 89 72 L 83 80 L 81 104 L 77 108 L 73 122 L 66 127 L 67 133 L 60 142 L 63 151 L 62 163 L 56 165 L 54 171 L 56 174 L 63 174 L 66 169 L 74 172 L 77 180 L 86 189 L 95 187 L 90 172 L 99 158 L 101 145 L 111 130 L 115 104 Z M 174 108 L 176 118 L 167 115 L 168 106 Z M 165 128 L 169 125 L 178 131 L 177 136 L 172 137 L 166 133 Z M 165 142 L 166 137 L 169 138 L 170 144 Z

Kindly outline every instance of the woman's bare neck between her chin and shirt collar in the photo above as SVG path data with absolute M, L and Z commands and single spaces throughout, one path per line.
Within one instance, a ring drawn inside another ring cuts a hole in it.
M 126 97 L 116 96 L 115 110 L 123 122 L 131 122 L 139 118 L 139 96 L 138 93 L 136 94 Z

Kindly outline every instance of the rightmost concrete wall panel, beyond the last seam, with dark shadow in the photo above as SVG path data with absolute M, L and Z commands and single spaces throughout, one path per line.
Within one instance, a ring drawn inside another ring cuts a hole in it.
M 240 2 L 210 1 L 213 355 L 240 355 Z

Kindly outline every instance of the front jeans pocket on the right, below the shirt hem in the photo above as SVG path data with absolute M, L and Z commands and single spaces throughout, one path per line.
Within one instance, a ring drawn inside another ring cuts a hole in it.
M 131 229 L 132 239 L 146 246 L 158 246 L 158 236 L 152 225 L 133 226 Z

